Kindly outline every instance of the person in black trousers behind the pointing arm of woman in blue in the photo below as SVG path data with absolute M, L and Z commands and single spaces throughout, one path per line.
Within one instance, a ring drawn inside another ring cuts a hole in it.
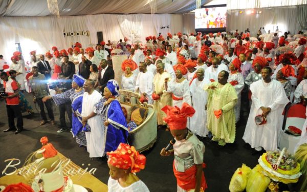
M 50 88 L 51 89 L 51 88 Z M 58 82 L 56 83 L 55 91 L 56 94 L 64 93 L 68 90 L 72 89 L 72 83 L 70 80 L 65 79 L 65 75 L 63 73 L 60 73 L 58 75 Z M 72 103 L 71 101 L 68 101 L 66 103 L 59 105 L 59 111 L 60 111 L 60 126 L 61 129 L 57 131 L 57 133 L 62 133 L 64 131 L 69 130 L 68 126 L 65 122 L 65 112 L 68 115 L 68 118 L 70 120 L 70 127 L 72 127 Z

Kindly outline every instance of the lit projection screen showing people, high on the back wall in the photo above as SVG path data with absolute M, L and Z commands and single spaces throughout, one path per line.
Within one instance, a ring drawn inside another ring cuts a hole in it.
M 225 28 L 226 7 L 195 9 L 195 29 Z

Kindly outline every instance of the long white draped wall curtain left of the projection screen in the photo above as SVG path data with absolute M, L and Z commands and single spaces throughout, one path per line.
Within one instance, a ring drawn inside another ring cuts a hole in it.
M 168 27 L 167 27 L 168 26 Z M 9 59 L 16 51 L 15 42 L 19 42 L 25 57 L 29 57 L 32 50 L 45 53 L 52 46 L 59 49 L 68 49 L 75 42 L 83 47 L 97 44 L 97 32 L 103 32 L 107 40 L 140 38 L 162 33 L 164 37 L 168 32 L 194 32 L 183 31 L 182 14 L 101 14 L 84 16 L 57 17 L 1 17 L 0 40 L 5 46 L 0 46 L 0 54 Z M 89 31 L 89 36 L 64 36 L 63 32 Z M 17 38 L 16 38 L 17 37 Z

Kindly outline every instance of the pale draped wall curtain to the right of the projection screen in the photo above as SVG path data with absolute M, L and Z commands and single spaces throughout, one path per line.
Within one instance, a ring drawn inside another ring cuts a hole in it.
M 264 27 L 268 32 L 275 32 L 278 26 L 282 33 L 290 31 L 296 34 L 302 28 L 298 23 L 296 7 L 261 8 L 261 14 L 246 14 L 246 11 L 239 13 L 240 10 L 231 10 L 227 14 L 227 31 L 238 29 L 245 31 L 249 28 L 251 36 L 256 36 L 258 29 Z M 281 34 L 279 34 L 281 35 Z

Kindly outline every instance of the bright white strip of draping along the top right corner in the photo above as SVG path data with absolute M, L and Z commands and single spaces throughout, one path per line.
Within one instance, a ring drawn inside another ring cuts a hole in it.
M 307 0 L 228 0 L 227 10 L 282 7 L 307 4 Z

